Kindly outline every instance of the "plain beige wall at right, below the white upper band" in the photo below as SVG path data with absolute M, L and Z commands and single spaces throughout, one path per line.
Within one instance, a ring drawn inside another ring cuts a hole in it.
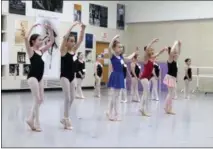
M 172 46 L 177 39 L 182 41 L 181 55 L 178 60 L 179 89 L 183 89 L 185 58 L 191 58 L 193 66 L 213 67 L 213 19 L 128 24 L 127 34 L 129 39 L 133 39 L 127 43 L 128 53 L 139 46 L 141 47 L 141 57 L 143 57 L 143 47 L 153 38 L 160 39 L 153 46 L 156 51 L 165 46 Z M 166 62 L 167 59 L 168 54 L 164 53 L 157 60 Z M 196 70 L 193 70 L 193 74 L 196 73 Z M 200 73 L 211 75 L 213 70 L 201 70 Z M 192 89 L 195 89 L 196 78 L 193 79 L 192 86 Z M 200 89 L 212 92 L 213 79 L 201 78 Z

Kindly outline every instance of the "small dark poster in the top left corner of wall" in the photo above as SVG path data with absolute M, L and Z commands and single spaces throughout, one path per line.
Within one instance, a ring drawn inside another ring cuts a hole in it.
M 26 3 L 22 0 L 9 0 L 9 13 L 26 14 Z

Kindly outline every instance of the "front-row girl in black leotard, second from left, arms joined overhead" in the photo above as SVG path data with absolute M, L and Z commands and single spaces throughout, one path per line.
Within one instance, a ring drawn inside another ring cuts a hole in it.
M 80 37 L 78 42 L 75 43 L 75 36 L 70 35 L 71 30 L 77 24 L 81 25 Z M 67 34 L 64 36 L 62 41 L 60 51 L 61 51 L 61 86 L 65 95 L 64 100 L 64 118 L 61 120 L 61 123 L 64 125 L 64 129 L 72 129 L 71 121 L 69 118 L 69 110 L 72 105 L 72 102 L 75 98 L 75 63 L 74 55 L 75 52 L 80 47 L 83 38 L 85 25 L 79 22 L 72 25 L 72 27 L 67 31 Z

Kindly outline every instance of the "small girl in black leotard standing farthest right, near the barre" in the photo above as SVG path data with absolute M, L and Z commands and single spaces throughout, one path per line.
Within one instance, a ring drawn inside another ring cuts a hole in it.
M 187 58 L 185 59 L 185 76 L 184 76 L 184 98 L 189 99 L 190 98 L 190 84 L 192 81 L 192 68 L 191 68 L 191 59 Z

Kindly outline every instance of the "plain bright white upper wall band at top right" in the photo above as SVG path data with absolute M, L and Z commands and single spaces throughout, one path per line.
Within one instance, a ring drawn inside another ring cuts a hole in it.
M 213 18 L 213 1 L 129 1 L 126 22 Z

